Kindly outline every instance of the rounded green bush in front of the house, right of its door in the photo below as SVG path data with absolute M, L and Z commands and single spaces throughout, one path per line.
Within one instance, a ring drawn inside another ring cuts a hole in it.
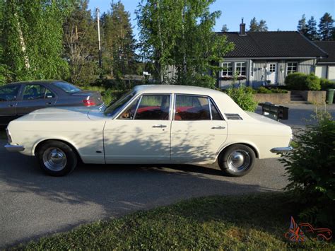
M 320 79 L 314 74 L 302 74 L 295 72 L 288 74 L 285 78 L 285 83 L 288 90 L 299 90 L 299 91 L 320 91 Z

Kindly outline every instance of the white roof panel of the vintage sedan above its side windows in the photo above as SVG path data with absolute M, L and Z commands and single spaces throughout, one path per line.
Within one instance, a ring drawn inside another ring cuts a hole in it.
M 183 93 L 196 95 L 218 95 L 225 94 L 209 88 L 198 86 L 175 86 L 175 85 L 143 85 L 135 86 L 136 93 Z

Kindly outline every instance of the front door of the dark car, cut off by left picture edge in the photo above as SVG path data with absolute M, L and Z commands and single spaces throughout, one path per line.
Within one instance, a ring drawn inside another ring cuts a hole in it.
M 0 87 L 0 124 L 6 125 L 16 119 L 16 105 L 20 85 L 6 85 Z

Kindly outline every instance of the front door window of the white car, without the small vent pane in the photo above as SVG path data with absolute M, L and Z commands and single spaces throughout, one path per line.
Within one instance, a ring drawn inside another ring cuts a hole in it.
M 143 95 L 139 100 L 134 119 L 168 120 L 170 95 Z

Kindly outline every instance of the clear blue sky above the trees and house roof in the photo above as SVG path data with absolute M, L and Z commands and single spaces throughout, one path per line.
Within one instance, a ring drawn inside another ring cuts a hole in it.
M 107 12 L 111 1 L 90 0 L 89 8 L 94 11 L 99 7 L 101 13 Z M 122 4 L 131 15 L 134 35 L 138 37 L 135 10 L 139 0 L 122 0 Z M 256 17 L 257 21 L 264 19 L 269 30 L 297 30 L 298 20 L 304 13 L 307 20 L 314 16 L 318 23 L 325 12 L 330 13 L 335 19 L 335 0 L 216 0 L 211 5 L 211 11 L 221 11 L 221 17 L 214 27 L 215 31 L 220 31 L 223 24 L 228 26 L 229 31 L 237 31 L 241 18 L 244 18 L 248 28 L 253 17 Z

